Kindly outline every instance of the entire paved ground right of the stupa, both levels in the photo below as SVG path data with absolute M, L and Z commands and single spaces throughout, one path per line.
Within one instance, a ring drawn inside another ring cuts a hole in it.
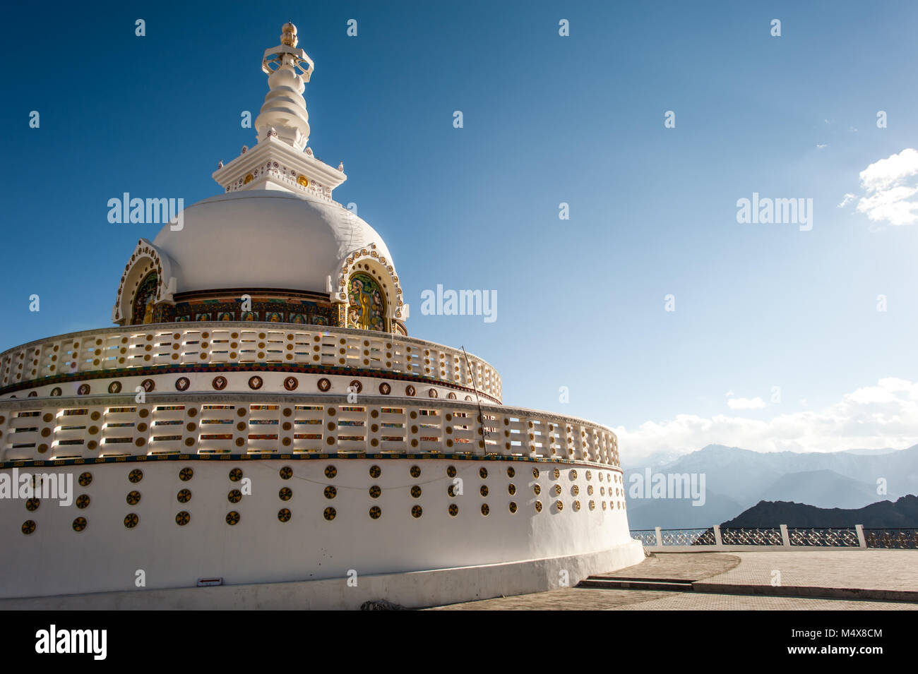
M 437 610 L 918 610 L 918 552 L 657 553 L 603 579 L 693 581 L 694 591 L 564 588 Z

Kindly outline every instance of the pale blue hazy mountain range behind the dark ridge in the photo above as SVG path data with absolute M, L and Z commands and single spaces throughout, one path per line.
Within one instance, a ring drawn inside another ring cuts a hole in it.
M 645 498 L 643 488 L 634 495 L 633 487 L 644 481 L 647 468 L 652 476 L 704 475 L 704 504 L 692 505 L 690 498 Z M 677 459 L 661 453 L 627 467 L 625 489 L 632 529 L 707 527 L 761 501 L 857 509 L 918 494 L 918 445 L 833 453 L 763 453 L 709 445 Z

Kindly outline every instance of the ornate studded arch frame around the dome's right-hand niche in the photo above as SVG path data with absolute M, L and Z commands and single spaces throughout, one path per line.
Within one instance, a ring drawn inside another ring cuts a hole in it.
M 392 260 L 386 260 L 386 256 L 380 255 L 375 244 L 354 250 L 341 262 L 337 287 L 331 293 L 331 301 L 339 305 L 341 326 L 350 326 L 351 281 L 360 274 L 368 276 L 378 285 L 385 317 L 384 329 L 386 332 L 395 332 L 398 323 L 403 322 L 404 315 L 407 315 L 405 302 Z

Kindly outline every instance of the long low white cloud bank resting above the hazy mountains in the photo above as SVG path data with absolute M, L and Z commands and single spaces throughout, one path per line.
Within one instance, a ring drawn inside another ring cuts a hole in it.
M 918 381 L 881 379 L 820 411 L 778 414 L 768 420 L 677 414 L 666 421 L 614 430 L 630 463 L 657 451 L 688 454 L 705 445 L 763 452 L 911 447 L 918 444 Z

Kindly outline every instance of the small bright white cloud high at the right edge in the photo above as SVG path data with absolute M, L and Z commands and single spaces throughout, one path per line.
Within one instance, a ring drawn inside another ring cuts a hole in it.
M 875 161 L 860 172 L 861 187 L 867 192 L 857 201 L 857 212 L 874 222 L 912 225 L 918 222 L 918 150 L 907 148 L 885 160 Z M 850 199 L 848 197 L 851 197 Z M 845 194 L 845 206 L 854 194 Z

